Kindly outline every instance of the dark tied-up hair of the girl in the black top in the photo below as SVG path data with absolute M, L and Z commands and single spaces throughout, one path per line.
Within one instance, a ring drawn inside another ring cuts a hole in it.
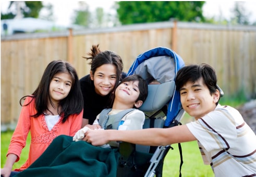
M 100 44 L 92 45 L 91 52 L 88 53 L 90 57 L 83 58 L 91 59 L 91 62 L 89 62 L 89 64 L 91 65 L 92 74 L 94 74 L 97 68 L 104 64 L 111 64 L 116 66 L 116 88 L 118 85 L 118 81 L 121 80 L 121 72 L 123 71 L 123 60 L 119 55 L 110 50 L 105 50 L 104 52 L 101 52 L 99 45 Z

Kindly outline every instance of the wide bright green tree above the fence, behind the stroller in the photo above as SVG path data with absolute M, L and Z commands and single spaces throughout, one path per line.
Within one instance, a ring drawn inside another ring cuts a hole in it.
M 117 14 L 122 24 L 168 21 L 204 22 L 203 1 L 120 1 Z

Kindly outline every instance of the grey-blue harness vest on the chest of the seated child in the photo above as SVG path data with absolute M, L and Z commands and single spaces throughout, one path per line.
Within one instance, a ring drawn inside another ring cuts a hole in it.
M 112 110 L 112 108 L 109 109 L 103 109 L 100 113 L 99 117 L 99 124 L 101 125 L 102 129 L 114 129 L 118 130 L 119 125 L 123 124 L 121 122 L 121 119 L 132 110 L 135 110 L 135 108 L 125 109 L 122 110 L 115 115 L 108 115 L 108 113 Z

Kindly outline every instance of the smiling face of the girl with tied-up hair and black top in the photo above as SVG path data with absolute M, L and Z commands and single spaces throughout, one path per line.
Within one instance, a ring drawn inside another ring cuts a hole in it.
M 92 75 L 92 72 L 90 75 L 97 94 L 105 96 L 113 91 L 117 77 L 114 65 L 104 64 L 95 70 L 94 75 Z

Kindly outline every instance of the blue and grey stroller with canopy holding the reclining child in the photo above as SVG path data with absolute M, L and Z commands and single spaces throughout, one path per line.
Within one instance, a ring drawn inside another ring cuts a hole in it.
M 185 111 L 175 90 L 175 77 L 184 66 L 182 58 L 165 47 L 150 49 L 133 62 L 126 76 L 141 75 L 149 89 L 147 99 L 139 108 L 146 117 L 143 129 L 168 128 L 180 123 Z M 170 148 L 170 145 L 152 147 L 120 143 L 117 176 L 162 176 L 164 158 Z

